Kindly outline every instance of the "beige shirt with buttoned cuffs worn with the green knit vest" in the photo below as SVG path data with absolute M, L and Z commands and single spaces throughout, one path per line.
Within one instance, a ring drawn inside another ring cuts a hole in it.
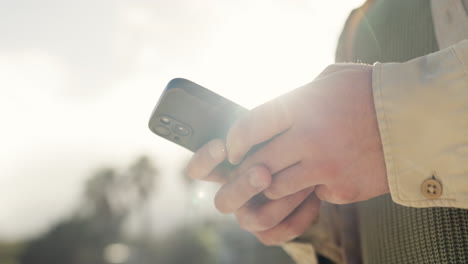
M 390 193 L 404 206 L 468 209 L 468 0 L 432 0 L 431 8 L 441 50 L 373 70 Z M 309 230 L 283 245 L 296 263 L 318 263 L 316 251 L 346 263 L 353 245 L 340 232 L 353 221 L 338 221 L 338 210 L 348 209 L 323 204 Z

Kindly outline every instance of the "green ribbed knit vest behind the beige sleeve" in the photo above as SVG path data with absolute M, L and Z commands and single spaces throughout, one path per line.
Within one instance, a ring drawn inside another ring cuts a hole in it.
M 438 50 L 429 0 L 377 0 L 356 15 L 362 19 L 348 19 L 340 37 L 338 62 L 403 62 Z M 390 195 L 357 210 L 364 263 L 468 263 L 468 210 L 404 207 Z

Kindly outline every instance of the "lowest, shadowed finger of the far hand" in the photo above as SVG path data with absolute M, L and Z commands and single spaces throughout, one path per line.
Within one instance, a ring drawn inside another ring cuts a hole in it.
M 255 232 L 255 236 L 265 245 L 279 245 L 302 235 L 317 217 L 320 200 L 311 194 L 296 210 L 279 225 Z

